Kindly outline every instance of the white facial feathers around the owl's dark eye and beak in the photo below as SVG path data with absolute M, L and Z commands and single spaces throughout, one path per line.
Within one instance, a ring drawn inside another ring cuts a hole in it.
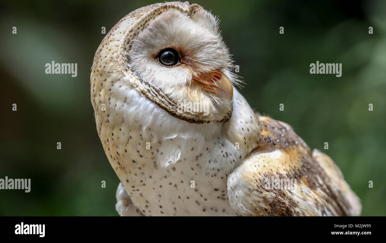
M 214 70 L 230 73 L 232 62 L 213 15 L 201 10 L 193 16 L 171 9 L 156 17 L 133 40 L 129 61 L 134 75 L 162 90 L 174 102 L 210 104 L 207 119 L 213 120 L 232 107 L 227 100 L 192 85 L 192 77 Z M 166 47 L 179 50 L 186 62 L 172 68 L 160 65 L 155 56 Z M 234 75 L 229 78 L 237 82 Z

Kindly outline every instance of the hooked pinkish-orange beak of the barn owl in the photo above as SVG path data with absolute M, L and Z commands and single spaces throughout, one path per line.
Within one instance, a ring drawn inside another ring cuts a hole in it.
M 233 86 L 227 75 L 223 72 L 211 72 L 201 77 L 194 77 L 194 81 L 200 82 L 209 92 L 213 92 L 220 97 L 227 98 L 229 101 L 233 97 Z

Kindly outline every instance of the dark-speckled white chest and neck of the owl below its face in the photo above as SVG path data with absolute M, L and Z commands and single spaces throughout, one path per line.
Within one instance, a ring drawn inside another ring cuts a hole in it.
M 108 99 L 114 112 L 98 113 L 97 124 L 105 123 L 103 147 L 134 205 L 153 216 L 236 215 L 227 177 L 256 146 L 260 129 L 244 97 L 235 90 L 227 123 L 192 124 L 136 90 L 114 92 L 122 97 Z

